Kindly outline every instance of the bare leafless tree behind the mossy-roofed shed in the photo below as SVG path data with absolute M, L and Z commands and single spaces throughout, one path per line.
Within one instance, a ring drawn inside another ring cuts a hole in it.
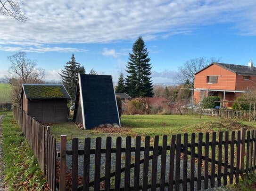
M 12 99 L 15 106 L 20 106 L 22 84 L 41 84 L 45 76 L 44 69 L 36 68 L 35 60 L 19 52 L 7 57 L 11 66 L 8 69 L 8 82 L 12 85 Z

